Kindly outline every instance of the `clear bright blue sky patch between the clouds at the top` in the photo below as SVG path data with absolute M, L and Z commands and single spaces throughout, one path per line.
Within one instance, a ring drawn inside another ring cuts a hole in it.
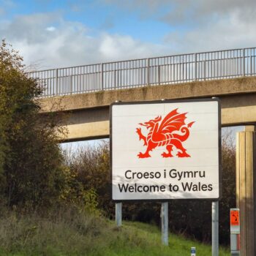
M 8 3 L 10 1 L 2 1 Z M 110 34 L 132 35 L 137 39 L 148 42 L 159 42 L 159 38 L 171 31 L 171 27 L 165 22 L 157 20 L 160 12 L 165 14 L 165 9 L 159 7 L 156 15 L 151 18 L 141 18 L 140 10 L 128 11 L 110 4 L 108 1 L 11 1 L 12 4 L 4 4 L 7 11 L 4 16 L 7 19 L 15 19 L 18 15 L 33 15 L 36 13 L 55 12 L 66 21 L 82 23 L 89 29 L 91 36 L 108 32 Z M 156 17 L 154 17 L 156 16 Z M 53 26 L 58 23 L 53 22 Z M 161 29 L 159 29 L 161 28 Z

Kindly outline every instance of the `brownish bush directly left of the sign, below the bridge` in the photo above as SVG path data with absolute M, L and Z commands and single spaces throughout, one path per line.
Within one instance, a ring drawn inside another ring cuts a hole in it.
M 70 152 L 69 152 L 70 153 Z M 86 191 L 94 190 L 97 206 L 106 214 L 114 217 L 114 204 L 111 200 L 111 181 L 109 169 L 109 144 L 102 141 L 99 146 L 78 148 L 74 154 L 64 154 L 70 172 L 75 176 L 71 187 Z M 77 184 L 75 184 L 77 183 Z

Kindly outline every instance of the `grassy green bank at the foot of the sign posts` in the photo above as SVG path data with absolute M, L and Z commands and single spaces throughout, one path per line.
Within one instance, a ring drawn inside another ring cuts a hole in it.
M 169 246 L 162 246 L 159 228 L 140 222 L 124 222 L 118 228 L 102 217 L 72 211 L 45 218 L 9 214 L 0 219 L 0 255 L 185 256 L 192 246 L 197 256 L 211 255 L 210 245 L 173 234 Z M 219 255 L 230 252 L 220 249 Z

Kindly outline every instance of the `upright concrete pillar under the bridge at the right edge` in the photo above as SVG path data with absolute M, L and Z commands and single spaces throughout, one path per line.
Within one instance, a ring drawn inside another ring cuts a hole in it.
M 256 132 L 254 126 L 236 138 L 236 205 L 241 213 L 241 255 L 256 255 Z

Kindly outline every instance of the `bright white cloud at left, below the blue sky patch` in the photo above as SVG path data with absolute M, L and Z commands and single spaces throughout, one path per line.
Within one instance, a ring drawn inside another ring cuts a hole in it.
M 91 36 L 82 23 L 68 22 L 58 13 L 18 16 L 0 26 L 0 34 L 20 50 L 26 64 L 39 69 L 167 53 L 162 45 L 140 42 L 129 36 L 106 33 Z

